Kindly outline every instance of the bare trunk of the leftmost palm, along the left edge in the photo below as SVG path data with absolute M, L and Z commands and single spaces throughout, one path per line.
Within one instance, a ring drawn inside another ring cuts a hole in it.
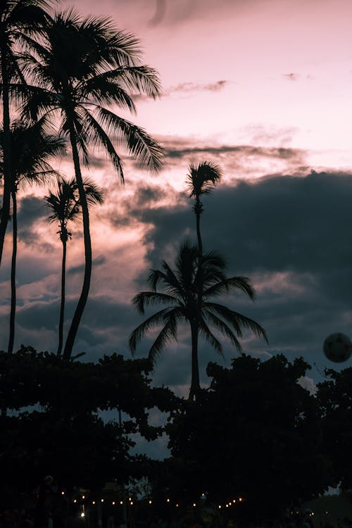
M 2 73 L 2 100 L 3 100 L 3 127 L 4 127 L 4 191 L 2 200 L 2 213 L 0 221 L 0 265 L 4 250 L 4 241 L 8 217 L 10 215 L 11 197 L 11 135 L 10 135 L 10 103 L 8 93 L 8 71 L 6 63 L 6 50 L 1 49 Z

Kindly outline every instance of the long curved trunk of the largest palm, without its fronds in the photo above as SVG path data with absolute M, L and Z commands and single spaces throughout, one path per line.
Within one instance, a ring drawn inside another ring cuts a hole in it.
M 84 312 L 84 307 L 87 303 L 89 294 L 90 279 L 92 275 L 92 243 L 89 232 L 89 210 L 87 198 L 84 192 L 82 173 L 80 168 L 80 157 L 78 154 L 77 144 L 75 140 L 75 127 L 70 123 L 70 143 L 73 152 L 73 163 L 75 165 L 75 178 L 77 181 L 77 188 L 80 195 L 80 204 L 82 207 L 83 219 L 83 237 L 84 237 L 84 278 L 82 284 L 82 291 L 78 300 L 73 320 L 71 321 L 68 337 L 66 339 L 65 348 L 63 351 L 63 359 L 70 359 L 73 351 L 73 344 L 80 325 L 80 321 Z

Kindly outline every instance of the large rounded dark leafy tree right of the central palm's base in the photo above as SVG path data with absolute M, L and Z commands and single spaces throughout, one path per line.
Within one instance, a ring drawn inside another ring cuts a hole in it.
M 298 382 L 308 369 L 282 355 L 209 363 L 210 389 L 184 401 L 167 427 L 170 494 L 206 491 L 224 509 L 231 503 L 226 513 L 238 522 L 263 522 L 327 489 L 318 401 Z

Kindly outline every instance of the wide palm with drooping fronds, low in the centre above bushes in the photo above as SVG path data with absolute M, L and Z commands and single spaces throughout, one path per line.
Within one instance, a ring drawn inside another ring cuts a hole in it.
M 191 246 L 186 240 L 180 247 L 175 260 L 175 271 L 163 261 L 162 270 L 151 270 L 148 278 L 151 291 L 142 291 L 132 299 L 139 313 L 144 314 L 147 306 L 162 304 L 166 307 L 151 315 L 142 322 L 130 335 L 130 350 L 135 352 L 140 339 L 153 327 L 160 327 L 161 332 L 156 337 L 149 350 L 149 359 L 155 361 L 168 341 L 177 339 L 177 325 L 185 320 L 191 328 L 191 389 L 189 398 L 195 399 L 200 391 L 198 339 L 201 334 L 215 351 L 222 354 L 222 345 L 213 334 L 210 326 L 230 339 L 241 352 L 238 338 L 242 330 L 249 329 L 258 337 L 268 341 L 265 330 L 257 322 L 239 312 L 231 310 L 212 298 L 242 292 L 253 300 L 254 290 L 247 277 L 226 277 L 225 260 L 211 251 L 201 257 L 197 246 Z M 199 284 L 201 282 L 201 284 Z M 161 284 L 163 291 L 156 291 Z M 199 311 L 199 291 L 201 291 L 201 309 Z

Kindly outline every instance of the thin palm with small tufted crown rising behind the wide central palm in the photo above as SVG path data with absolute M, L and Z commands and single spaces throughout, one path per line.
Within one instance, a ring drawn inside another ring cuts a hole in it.
M 186 183 L 189 197 L 194 198 L 193 210 L 196 214 L 196 234 L 198 239 L 199 258 L 203 253 L 203 244 L 201 240 L 201 213 L 203 213 L 203 203 L 201 203 L 201 196 L 209 194 L 211 189 L 215 187 L 220 178 L 222 171 L 218 165 L 211 161 L 202 161 L 199 165 L 191 163 L 189 165 L 189 173 L 187 174 Z

